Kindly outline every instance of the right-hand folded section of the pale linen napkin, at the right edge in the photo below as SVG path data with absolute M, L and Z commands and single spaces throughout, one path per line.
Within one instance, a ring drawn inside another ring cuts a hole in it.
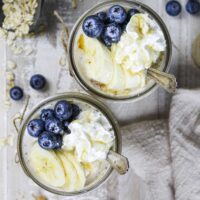
M 176 200 L 200 199 L 200 90 L 179 90 L 170 110 L 170 149 Z

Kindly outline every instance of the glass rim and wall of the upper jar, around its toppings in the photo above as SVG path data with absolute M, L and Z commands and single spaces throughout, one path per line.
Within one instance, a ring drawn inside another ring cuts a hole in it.
M 164 52 L 162 62 L 159 64 L 159 69 L 164 72 L 169 71 L 170 61 L 171 61 L 171 52 L 172 52 L 172 43 L 171 43 L 169 32 L 164 22 L 159 17 L 159 15 L 147 5 L 142 4 L 138 1 L 128 1 L 128 0 L 105 1 L 89 9 L 78 19 L 78 21 L 76 22 L 76 24 L 74 25 L 71 31 L 69 44 L 68 44 L 69 63 L 70 63 L 69 67 L 70 67 L 71 75 L 76 79 L 76 81 L 80 84 L 80 86 L 82 86 L 82 88 L 89 94 L 99 97 L 100 99 L 103 99 L 103 100 L 114 100 L 114 101 L 123 101 L 123 102 L 131 101 L 132 102 L 133 100 L 144 98 L 148 94 L 152 93 L 157 88 L 157 84 L 154 81 L 149 80 L 148 84 L 136 93 L 129 94 L 129 95 L 108 94 L 108 93 L 103 92 L 101 89 L 98 89 L 93 84 L 91 84 L 91 82 L 88 81 L 87 78 L 83 76 L 83 73 L 81 73 L 81 70 L 77 63 L 78 55 L 76 52 L 77 50 L 76 42 L 78 40 L 78 37 L 80 36 L 80 33 L 82 32 L 82 23 L 84 19 L 87 16 L 94 15 L 99 11 L 107 11 L 111 6 L 116 5 L 116 4 L 119 4 L 126 9 L 136 8 L 141 13 L 147 13 L 150 18 L 152 18 L 153 20 L 157 22 L 166 40 L 166 50 Z

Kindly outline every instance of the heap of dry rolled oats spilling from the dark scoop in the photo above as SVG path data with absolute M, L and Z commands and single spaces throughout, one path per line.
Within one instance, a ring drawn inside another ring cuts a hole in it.
M 29 33 L 37 7 L 37 0 L 3 1 L 2 10 L 5 18 L 0 28 L 0 37 L 6 39 L 15 54 L 22 53 L 22 47 L 17 47 L 16 39 Z

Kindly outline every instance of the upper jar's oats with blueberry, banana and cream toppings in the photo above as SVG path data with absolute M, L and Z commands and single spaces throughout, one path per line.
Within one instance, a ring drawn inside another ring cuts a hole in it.
M 89 92 L 110 99 L 138 97 L 155 86 L 149 68 L 166 71 L 169 36 L 158 16 L 129 1 L 100 4 L 76 24 L 71 70 Z

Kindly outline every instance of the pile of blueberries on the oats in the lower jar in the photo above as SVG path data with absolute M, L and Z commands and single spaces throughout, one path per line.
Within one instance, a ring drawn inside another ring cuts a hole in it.
M 38 138 L 43 149 L 60 149 L 62 136 L 71 133 L 68 126 L 80 112 L 78 105 L 65 100 L 58 101 L 54 109 L 43 109 L 39 119 L 32 119 L 27 131 L 32 137 Z

